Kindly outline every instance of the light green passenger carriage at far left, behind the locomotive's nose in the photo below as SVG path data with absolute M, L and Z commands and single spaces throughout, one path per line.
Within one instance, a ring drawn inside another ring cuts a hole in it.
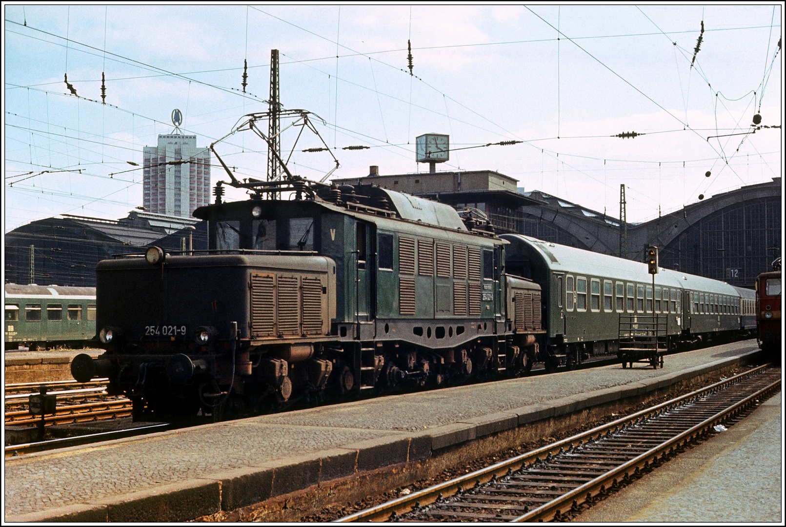
M 6 284 L 6 351 L 84 348 L 96 334 L 94 287 Z

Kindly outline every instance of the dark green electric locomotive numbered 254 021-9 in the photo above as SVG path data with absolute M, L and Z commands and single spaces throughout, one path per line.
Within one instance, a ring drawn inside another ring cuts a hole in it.
M 135 419 L 217 421 L 532 367 L 541 287 L 505 271 L 507 242 L 476 219 L 376 186 L 292 176 L 223 202 L 222 184 L 194 212 L 207 251 L 97 266 L 106 352 L 72 373 L 108 377 Z

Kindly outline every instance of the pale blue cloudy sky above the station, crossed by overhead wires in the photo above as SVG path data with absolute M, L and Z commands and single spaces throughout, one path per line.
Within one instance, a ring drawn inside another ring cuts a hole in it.
M 624 184 L 641 222 L 782 171 L 780 4 L 2 7 L 4 232 L 127 216 L 142 203 L 129 162 L 171 133 L 173 109 L 197 146 L 266 111 L 272 49 L 282 105 L 312 112 L 340 162 L 331 179 L 428 171 L 415 138 L 436 132 L 454 149 L 438 170 L 499 171 L 614 217 Z M 483 146 L 505 141 L 520 143 Z M 329 153 L 302 152 L 317 146 L 304 132 L 290 170 L 322 179 Z M 265 179 L 251 132 L 215 148 Z M 215 185 L 227 176 L 213 164 Z

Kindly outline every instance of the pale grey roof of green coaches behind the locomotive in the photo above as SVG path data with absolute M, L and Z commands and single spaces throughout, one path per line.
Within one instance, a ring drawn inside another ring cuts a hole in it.
M 647 264 L 634 262 L 617 256 L 587 251 L 551 241 L 538 240 L 522 234 L 502 234 L 500 238 L 508 240 L 512 245 L 524 245 L 541 257 L 546 267 L 553 271 L 563 271 L 578 275 L 604 276 L 636 282 L 651 283 L 652 275 L 648 273 Z M 513 249 L 515 250 L 515 249 Z M 655 276 L 656 286 L 680 287 L 709 293 L 729 296 L 740 296 L 733 286 L 703 276 L 689 275 L 679 271 L 659 268 Z

